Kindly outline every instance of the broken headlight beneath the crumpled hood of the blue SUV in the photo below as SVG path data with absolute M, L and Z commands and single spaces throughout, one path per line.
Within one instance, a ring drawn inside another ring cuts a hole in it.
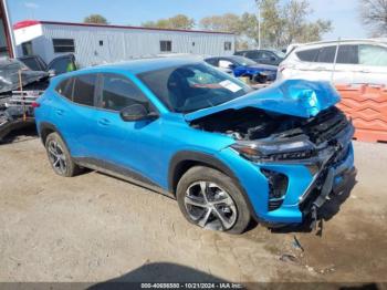
M 315 156 L 313 144 L 305 139 L 291 142 L 240 141 L 231 147 L 241 156 L 252 162 L 306 159 Z

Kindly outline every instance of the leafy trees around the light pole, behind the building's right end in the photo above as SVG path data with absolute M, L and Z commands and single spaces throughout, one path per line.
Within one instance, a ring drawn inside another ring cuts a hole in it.
M 281 0 L 258 2 L 261 15 L 261 46 L 285 48 L 292 42 L 317 41 L 324 33 L 332 30 L 331 21 L 307 20 L 313 12 L 307 0 L 291 0 L 285 4 Z M 200 20 L 200 27 L 211 31 L 234 33 L 238 49 L 259 45 L 258 13 L 206 17 Z

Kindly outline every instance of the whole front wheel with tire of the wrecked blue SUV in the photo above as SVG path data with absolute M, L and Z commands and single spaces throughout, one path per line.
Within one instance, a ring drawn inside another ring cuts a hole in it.
M 201 228 L 241 234 L 250 222 L 241 190 L 229 176 L 210 167 L 190 168 L 179 180 L 176 196 L 186 219 Z

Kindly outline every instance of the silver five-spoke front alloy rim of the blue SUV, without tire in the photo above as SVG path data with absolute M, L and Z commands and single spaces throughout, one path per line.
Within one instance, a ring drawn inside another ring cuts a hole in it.
M 237 221 L 236 203 L 215 183 L 202 180 L 191 184 L 186 191 L 184 203 L 189 217 L 199 227 L 228 230 Z

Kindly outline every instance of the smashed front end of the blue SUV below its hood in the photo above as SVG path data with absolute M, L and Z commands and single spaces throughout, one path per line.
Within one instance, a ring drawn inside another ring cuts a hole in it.
M 307 107 L 300 100 L 295 104 Z M 257 166 L 268 184 L 268 194 L 259 198 L 264 206 L 258 205 L 255 210 L 260 218 L 301 222 L 305 215 L 315 214 L 332 191 L 345 189 L 354 173 L 354 126 L 333 105 L 310 116 L 284 114 L 286 102 L 281 112 L 276 108 L 278 102 L 271 111 L 268 106 L 228 108 L 190 124 L 232 137 L 231 148 Z M 295 112 L 294 106 L 287 110 Z

